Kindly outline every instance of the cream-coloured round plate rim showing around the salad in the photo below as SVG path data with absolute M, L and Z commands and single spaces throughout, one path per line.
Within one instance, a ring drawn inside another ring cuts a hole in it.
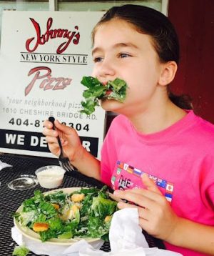
M 66 194 L 71 194 L 71 192 L 80 190 L 81 187 L 66 187 L 63 189 L 54 189 L 49 192 L 45 192 L 44 195 L 52 194 L 56 191 L 63 191 Z M 16 212 L 21 212 L 23 206 L 21 205 Z M 30 238 L 31 240 L 36 240 L 38 242 L 41 242 L 39 238 L 39 234 L 31 230 L 29 227 L 23 227 L 19 224 L 19 222 L 14 218 L 14 225 L 21 232 L 22 235 L 25 237 Z M 78 242 L 79 240 L 86 240 L 88 243 L 96 242 L 98 240 L 101 240 L 101 238 L 91 238 L 91 237 L 81 237 L 81 238 L 71 238 L 71 239 L 59 239 L 59 238 L 52 238 L 51 240 L 46 241 L 46 244 L 52 244 L 52 245 L 73 245 L 73 243 Z M 44 243 L 44 242 L 42 242 Z

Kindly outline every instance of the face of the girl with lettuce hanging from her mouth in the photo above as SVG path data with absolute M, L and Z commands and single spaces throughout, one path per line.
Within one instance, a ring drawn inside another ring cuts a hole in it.
M 118 77 L 128 84 L 125 102 L 104 100 L 103 109 L 130 116 L 156 102 L 162 64 L 151 36 L 139 33 L 126 21 L 113 19 L 96 29 L 92 55 L 93 77 L 104 84 Z

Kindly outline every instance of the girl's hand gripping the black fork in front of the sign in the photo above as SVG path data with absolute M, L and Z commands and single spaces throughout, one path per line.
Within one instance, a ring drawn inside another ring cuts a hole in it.
M 55 154 L 57 157 L 60 154 L 60 148 L 57 141 L 58 136 L 61 140 L 63 151 L 70 162 L 80 159 L 84 149 L 76 130 L 61 124 L 58 120 L 54 121 L 54 125 L 55 130 L 53 129 L 53 124 L 49 122 L 49 120 L 44 122 L 43 134 L 46 136 L 46 142 L 49 144 L 51 153 Z

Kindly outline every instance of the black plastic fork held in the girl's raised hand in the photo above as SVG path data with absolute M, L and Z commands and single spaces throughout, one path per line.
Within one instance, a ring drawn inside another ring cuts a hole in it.
M 54 125 L 54 120 L 55 120 L 54 117 L 49 117 L 49 121 L 53 124 L 53 129 L 56 129 L 55 125 Z M 58 162 L 59 162 L 59 164 L 61 165 L 61 167 L 63 169 L 65 169 L 67 172 L 71 172 L 71 171 L 74 170 L 74 167 L 71 164 L 71 162 L 69 161 L 66 154 L 63 152 L 63 147 L 61 145 L 61 141 L 60 141 L 60 138 L 58 136 L 57 136 L 57 141 L 58 141 L 58 145 L 60 147 L 60 154 L 59 154 L 59 157 L 58 157 Z

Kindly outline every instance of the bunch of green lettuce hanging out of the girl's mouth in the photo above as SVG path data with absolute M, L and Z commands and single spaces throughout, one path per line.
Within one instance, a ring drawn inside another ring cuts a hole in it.
M 118 102 L 123 102 L 126 98 L 127 84 L 119 78 L 108 81 L 106 85 L 103 85 L 95 77 L 83 77 L 81 84 L 88 88 L 83 92 L 86 102 L 81 102 L 83 107 L 81 113 L 93 113 L 95 107 L 99 106 L 99 99 L 115 99 Z

